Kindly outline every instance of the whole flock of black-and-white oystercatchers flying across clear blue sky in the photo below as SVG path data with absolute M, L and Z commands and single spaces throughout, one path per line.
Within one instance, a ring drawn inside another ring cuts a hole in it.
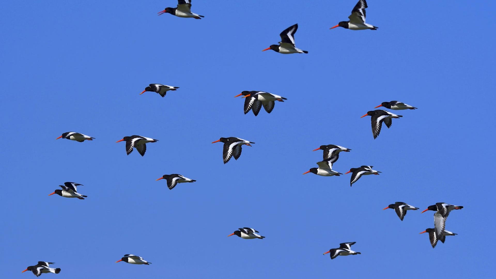
M 330 29 L 336 27 L 343 27 L 351 30 L 365 30 L 365 29 L 376 30 L 378 27 L 365 22 L 365 18 L 366 18 L 365 8 L 367 7 L 368 6 L 366 0 L 359 0 L 358 3 L 353 8 L 351 15 L 348 17 L 350 20 L 341 21 L 337 25 L 331 27 Z M 178 17 L 191 17 L 195 19 L 201 19 L 202 17 L 204 17 L 203 15 L 199 15 L 191 12 L 190 8 L 191 8 L 191 0 L 178 0 L 177 7 L 175 8 L 167 7 L 163 11 L 160 11 L 158 14 L 161 15 L 164 13 L 170 13 Z M 281 54 L 308 53 L 308 51 L 303 51 L 295 46 L 294 34 L 296 33 L 297 30 L 298 30 L 298 24 L 294 24 L 288 27 L 283 32 L 281 32 L 280 34 L 281 42 L 279 42 L 279 45 L 271 45 L 270 47 L 264 49 L 263 51 L 273 50 Z M 149 86 L 147 86 L 140 93 L 140 95 L 143 94 L 144 92 L 149 91 L 149 92 L 156 92 L 160 96 L 165 97 L 167 91 L 175 91 L 178 88 L 179 87 L 177 86 L 152 83 Z M 244 113 L 247 114 L 251 110 L 255 116 L 258 115 L 261 107 L 263 107 L 267 113 L 271 113 L 274 109 L 275 101 L 284 102 L 284 100 L 287 100 L 287 98 L 284 98 L 282 96 L 264 91 L 243 91 L 240 94 L 236 95 L 235 97 L 239 97 L 239 96 L 243 96 L 243 98 L 245 98 Z M 382 102 L 380 105 L 376 106 L 375 108 L 378 107 L 384 107 L 391 110 L 417 109 L 416 107 L 410 106 L 408 104 L 399 101 Z M 382 123 L 384 123 L 387 128 L 390 128 L 392 125 L 393 118 L 403 117 L 402 115 L 396 115 L 385 110 L 368 111 L 367 114 L 363 115 L 362 117 L 365 116 L 371 116 L 372 136 L 374 139 L 376 139 L 379 136 Z M 61 138 L 75 140 L 79 142 L 95 139 L 93 137 L 76 132 L 63 133 L 62 136 L 58 137 L 57 139 L 61 139 Z M 136 148 L 138 153 L 141 156 L 144 156 L 146 152 L 146 143 L 157 142 L 158 139 L 152 139 L 152 138 L 134 135 L 134 136 L 124 137 L 123 139 L 120 139 L 116 142 L 120 142 L 120 141 L 125 141 L 125 150 L 127 155 L 129 155 L 133 151 L 133 148 Z M 220 138 L 218 140 L 213 141 L 212 143 L 215 142 L 224 143 L 223 151 L 222 151 L 224 164 L 229 162 L 229 160 L 233 156 L 235 160 L 238 160 L 241 156 L 243 145 L 251 146 L 252 143 L 255 143 L 246 139 L 240 139 L 236 137 Z M 307 174 L 311 172 L 320 176 L 342 175 L 342 173 L 334 171 L 332 169 L 332 166 L 339 159 L 340 152 L 343 151 L 350 152 L 352 149 L 339 145 L 328 144 L 328 145 L 321 145 L 320 147 L 314 149 L 313 151 L 316 150 L 323 150 L 323 160 L 317 162 L 318 168 L 310 168 L 309 171 L 303 174 Z M 357 182 L 363 175 L 370 175 L 370 174 L 378 175 L 380 173 L 380 171 L 373 170 L 372 167 L 373 166 L 363 165 L 357 168 L 351 168 L 348 172 L 346 172 L 345 174 L 348 174 L 350 172 L 352 173 L 350 179 L 350 186 L 352 186 L 353 183 Z M 167 187 L 170 190 L 174 189 L 178 183 L 191 183 L 196 181 L 187 178 L 181 174 L 164 174 L 161 178 L 157 180 L 161 180 L 161 179 L 165 179 L 167 181 Z M 62 190 L 61 189 L 55 190 L 53 193 L 49 194 L 49 196 L 57 194 L 64 198 L 77 198 L 80 200 L 84 200 L 84 198 L 87 197 L 77 192 L 77 186 L 82 186 L 82 184 L 78 184 L 74 182 L 65 182 L 64 185 L 59 185 L 59 186 L 62 188 Z M 421 233 L 426 233 L 426 232 L 429 233 L 429 239 L 433 248 L 436 246 L 438 240 L 444 243 L 445 237 L 447 235 L 456 235 L 456 233 L 452 233 L 450 231 L 445 230 L 445 222 L 451 210 L 462 209 L 462 208 L 463 208 L 462 206 L 454 206 L 446 203 L 436 203 L 435 205 L 429 206 L 427 209 L 422 211 L 422 213 L 427 210 L 435 211 L 434 228 L 427 228 L 425 231 L 421 232 Z M 419 208 L 410 206 L 403 202 L 396 202 L 384 209 L 394 209 L 400 220 L 403 221 L 407 210 L 417 210 Z M 253 228 L 243 227 L 243 228 L 239 228 L 238 230 L 234 231 L 232 234 L 228 236 L 237 235 L 243 239 L 265 238 L 265 236 L 261 236 L 258 233 L 259 232 Z M 355 243 L 356 242 L 340 243 L 338 248 L 329 249 L 329 251 L 325 252 L 324 255 L 329 253 L 330 258 L 335 259 L 337 256 L 361 254 L 360 252 L 355 252 L 351 250 L 351 246 L 354 245 Z M 121 260 L 117 261 L 116 263 L 121 261 L 129 264 L 137 264 L 137 265 L 151 264 L 150 262 L 145 261 L 143 258 L 132 254 L 124 255 L 124 257 L 122 257 Z M 40 261 L 35 266 L 27 267 L 23 272 L 31 271 L 37 277 L 43 273 L 58 274 L 61 272 L 60 268 L 51 268 L 50 267 L 51 264 L 54 263 Z

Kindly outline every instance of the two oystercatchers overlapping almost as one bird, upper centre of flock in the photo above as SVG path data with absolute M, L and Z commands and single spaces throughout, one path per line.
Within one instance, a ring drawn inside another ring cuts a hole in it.
M 267 113 L 271 113 L 275 106 L 275 101 L 284 102 L 287 100 L 283 96 L 264 92 L 264 91 L 243 91 L 234 96 L 238 97 L 243 95 L 245 99 L 245 114 L 251 109 L 255 116 L 258 115 L 260 108 L 263 106 Z

